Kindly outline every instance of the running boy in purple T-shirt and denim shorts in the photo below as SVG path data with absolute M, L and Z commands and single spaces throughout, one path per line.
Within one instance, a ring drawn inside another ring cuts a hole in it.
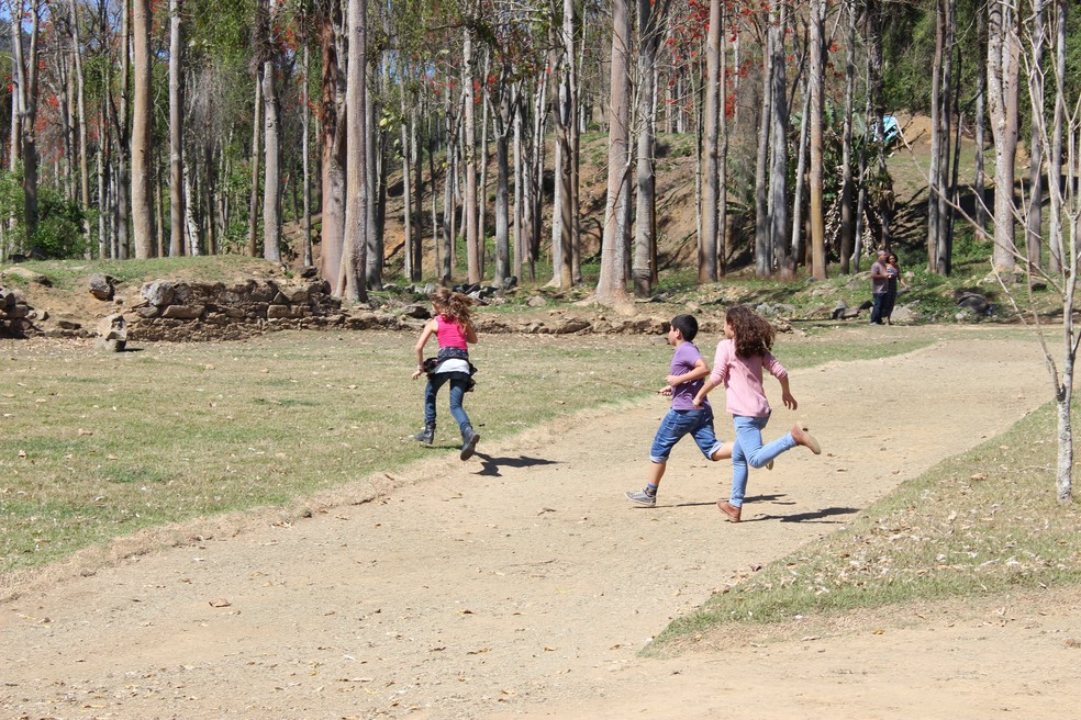
M 710 460 L 724 460 L 732 457 L 732 447 L 725 447 L 713 432 L 713 408 L 709 403 L 694 406 L 694 396 L 709 376 L 710 367 L 694 346 L 698 335 L 698 320 L 693 315 L 677 315 L 668 329 L 668 344 L 676 348 L 672 353 L 670 373 L 661 395 L 671 395 L 672 405 L 657 428 L 653 447 L 649 449 L 649 479 L 639 491 L 628 492 L 627 499 L 638 505 L 653 507 L 657 504 L 657 487 L 665 476 L 668 455 L 684 435 L 694 438 L 699 449 Z

